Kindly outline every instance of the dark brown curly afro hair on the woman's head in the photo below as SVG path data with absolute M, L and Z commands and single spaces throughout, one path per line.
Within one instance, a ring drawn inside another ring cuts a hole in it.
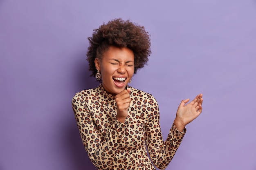
M 90 46 L 88 47 L 87 60 L 91 76 L 95 76 L 97 69 L 94 60 L 96 57 L 102 59 L 103 53 L 110 46 L 127 47 L 134 53 L 134 74 L 137 70 L 143 68 L 148 62 L 150 50 L 150 35 L 145 31 L 143 26 L 124 21 L 121 18 L 103 23 L 99 29 L 94 29 L 92 37 L 88 37 Z

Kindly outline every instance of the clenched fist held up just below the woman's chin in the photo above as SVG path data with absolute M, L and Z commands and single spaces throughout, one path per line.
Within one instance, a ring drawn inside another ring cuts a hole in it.
M 116 95 L 117 120 L 124 123 L 130 106 L 130 88 L 123 90 Z

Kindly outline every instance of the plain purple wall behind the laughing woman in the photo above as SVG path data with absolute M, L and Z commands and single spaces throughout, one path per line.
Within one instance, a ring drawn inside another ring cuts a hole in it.
M 256 0 L 0 0 L 0 170 L 95 170 L 71 99 L 98 85 L 87 37 L 114 18 L 151 34 L 131 86 L 157 99 L 164 139 L 204 95 L 167 170 L 256 170 Z

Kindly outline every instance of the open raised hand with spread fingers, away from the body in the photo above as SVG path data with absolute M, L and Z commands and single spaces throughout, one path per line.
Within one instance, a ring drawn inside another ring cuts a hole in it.
M 193 101 L 190 103 L 188 103 L 189 99 L 182 100 L 174 120 L 174 124 L 178 130 L 183 131 L 187 124 L 189 124 L 191 121 L 197 118 L 200 113 L 202 113 L 202 96 L 202 94 L 197 95 L 195 99 L 193 99 Z

